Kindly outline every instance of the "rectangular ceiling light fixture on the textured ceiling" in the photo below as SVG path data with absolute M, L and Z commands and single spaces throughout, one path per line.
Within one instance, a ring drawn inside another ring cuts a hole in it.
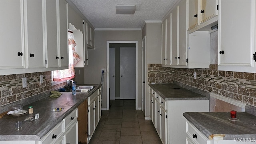
M 116 5 L 116 14 L 134 14 L 136 5 Z

